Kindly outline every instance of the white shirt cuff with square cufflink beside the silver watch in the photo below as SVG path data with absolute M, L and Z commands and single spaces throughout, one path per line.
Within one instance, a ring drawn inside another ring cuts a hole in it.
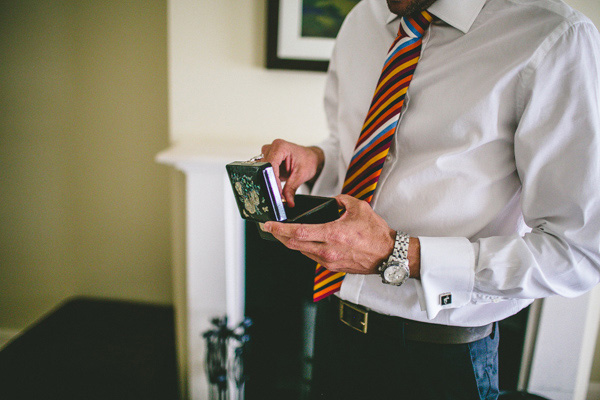
M 427 318 L 441 310 L 458 308 L 471 301 L 475 281 L 475 251 L 466 238 L 419 237 L 421 287 L 419 302 Z

